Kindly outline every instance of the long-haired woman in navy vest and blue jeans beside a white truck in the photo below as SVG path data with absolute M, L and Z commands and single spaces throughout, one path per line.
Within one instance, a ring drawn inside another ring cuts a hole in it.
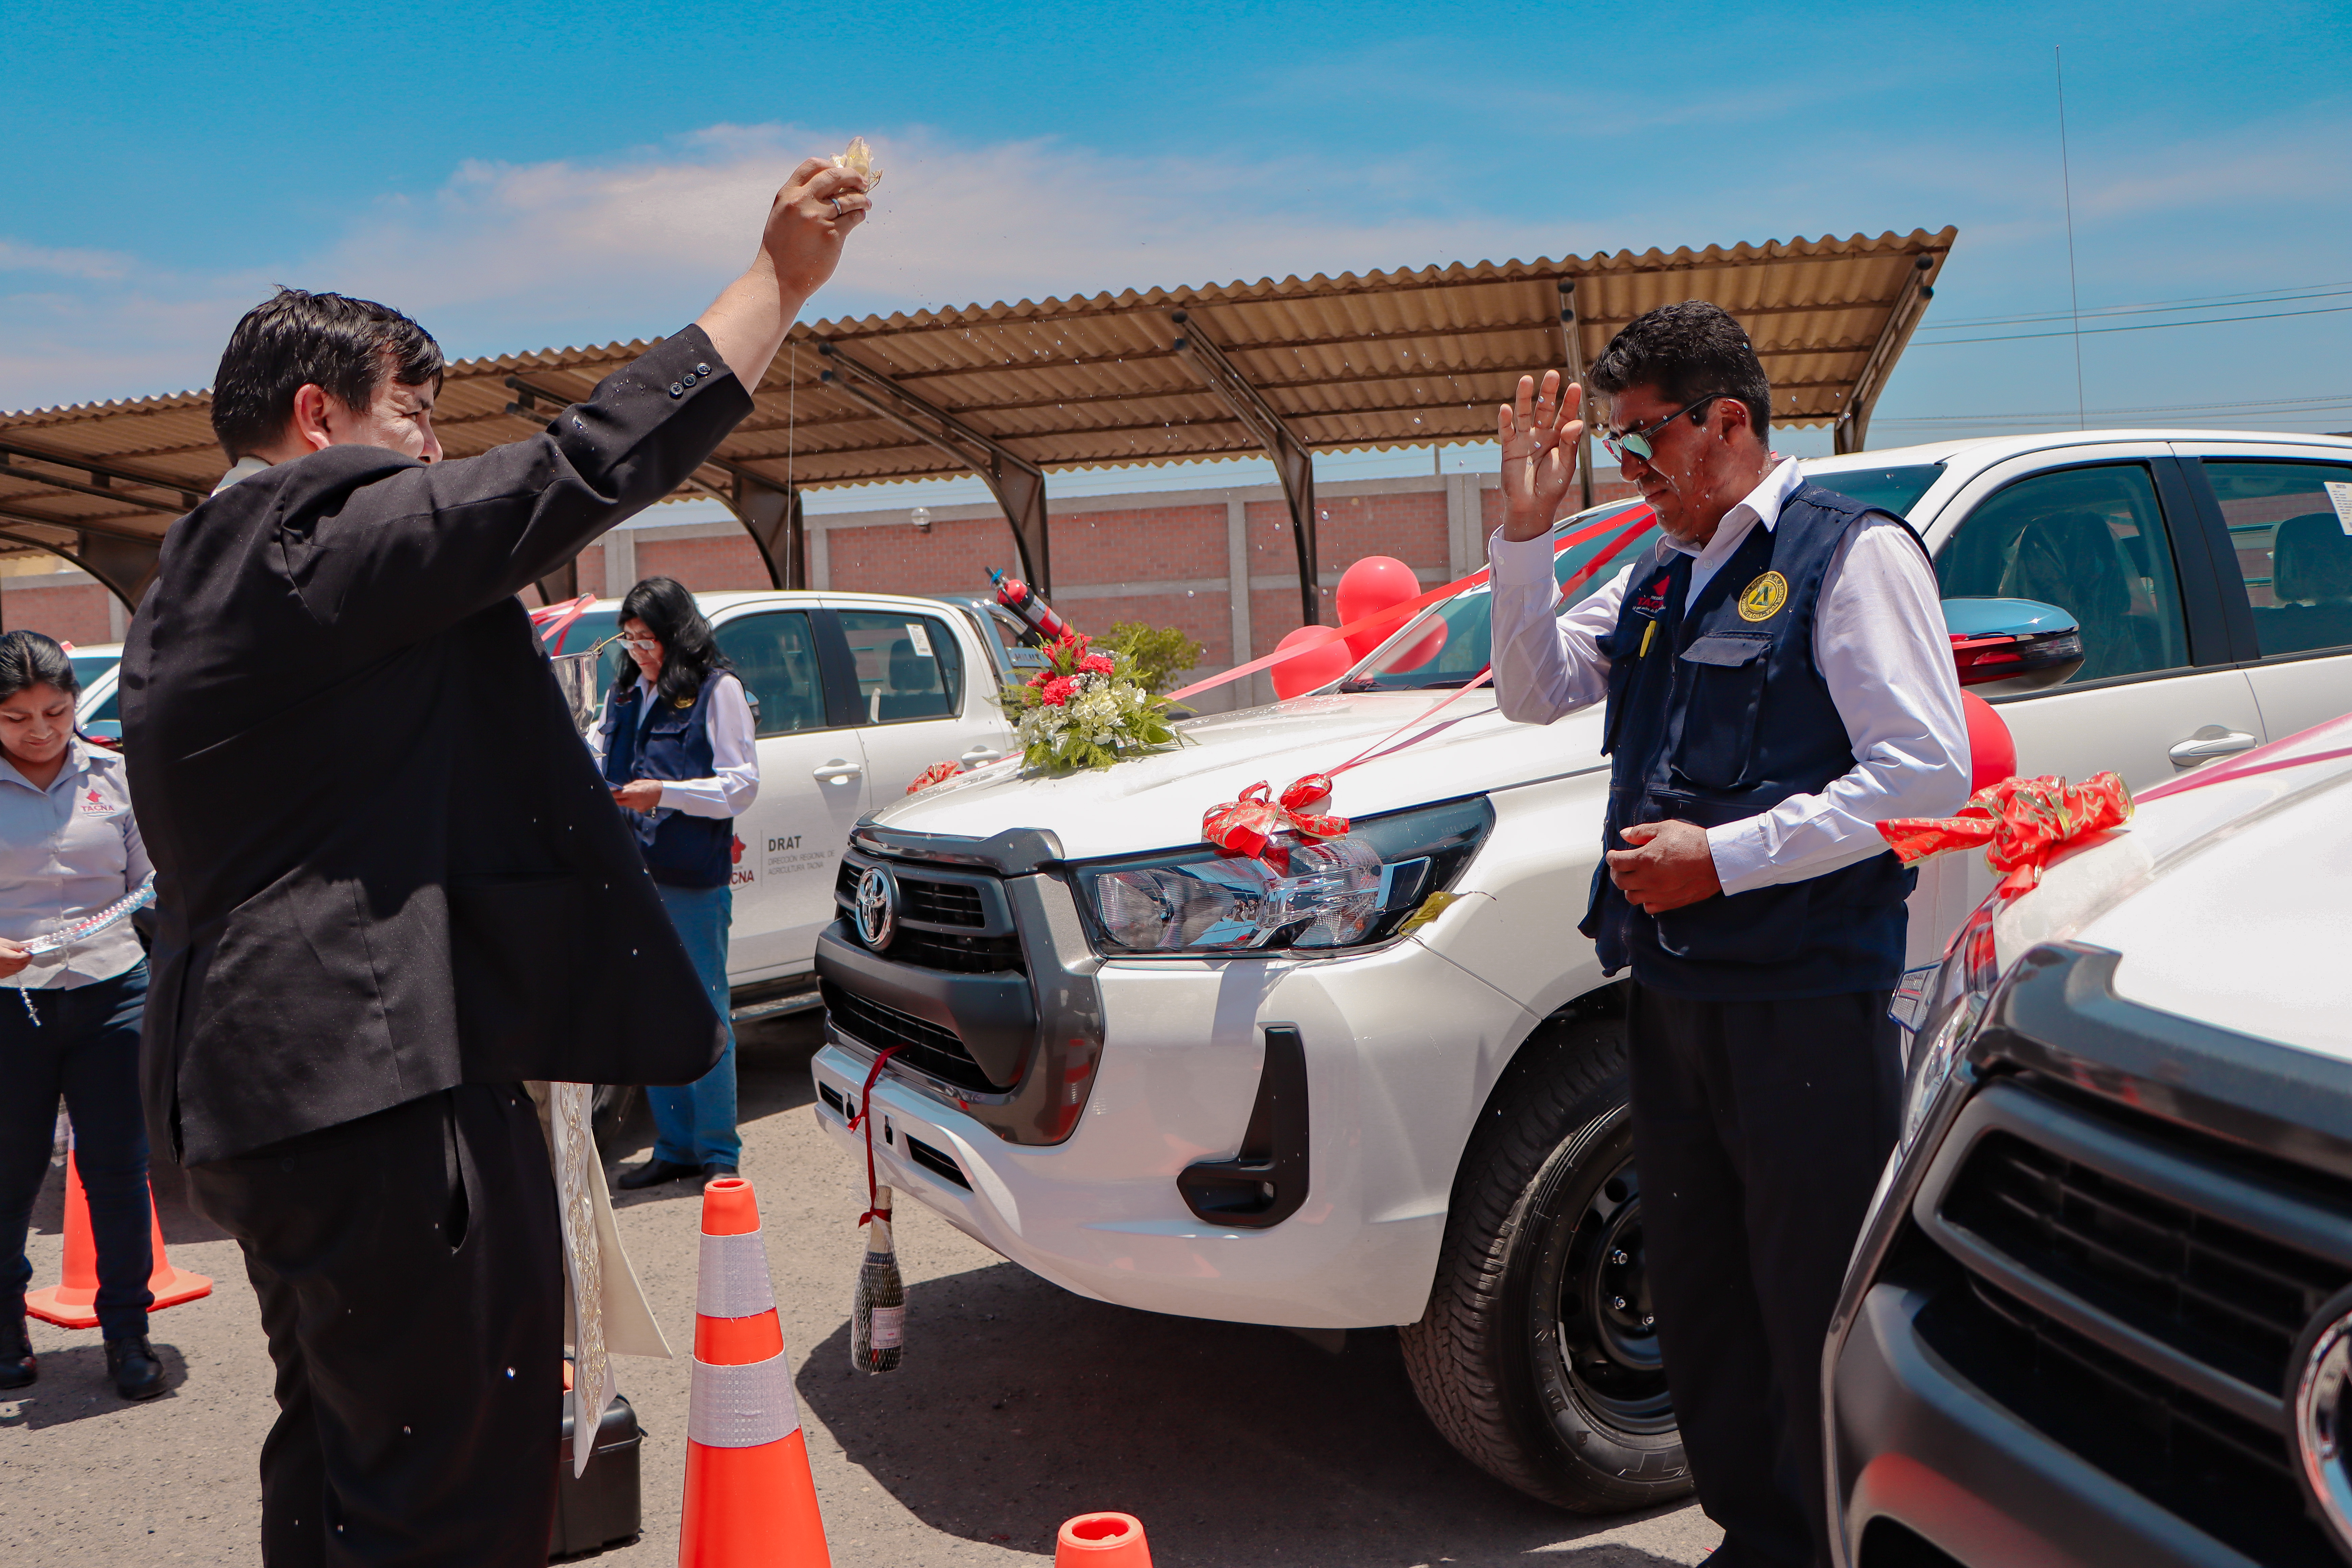
M 727 924 L 734 917 L 734 818 L 760 795 L 750 698 L 680 583 L 644 578 L 621 599 L 621 672 L 604 696 L 595 752 L 637 830 L 654 889 L 727 1027 L 717 1065 L 684 1088 L 647 1088 L 654 1157 L 626 1190 L 734 1175 L 734 1025 L 727 1023 Z

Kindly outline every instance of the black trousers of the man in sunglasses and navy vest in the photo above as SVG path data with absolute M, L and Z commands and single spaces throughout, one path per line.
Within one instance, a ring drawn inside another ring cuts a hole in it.
M 1630 1001 L 1642 1244 L 1698 1502 L 1726 1568 L 1828 1563 L 1820 1352 L 1896 1143 L 1889 992 Z

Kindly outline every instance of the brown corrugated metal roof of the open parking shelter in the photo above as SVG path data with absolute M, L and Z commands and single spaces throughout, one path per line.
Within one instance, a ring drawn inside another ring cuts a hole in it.
M 720 458 L 800 487 L 962 473 L 936 447 L 826 386 L 818 343 L 854 355 L 1044 470 L 1247 456 L 1258 447 L 1174 350 L 1190 331 L 1263 393 L 1317 451 L 1418 447 L 1494 435 L 1517 378 L 1559 364 L 1573 303 L 1583 362 L 1632 317 L 1712 299 L 1748 327 L 1773 383 L 1773 421 L 1830 423 L 1884 386 L 1910 320 L 1910 282 L 1933 284 L 1957 230 L 1788 240 L 1562 261 L 1284 277 L 1145 294 L 1096 294 L 915 315 L 804 322 Z M 1924 266 L 1922 266 L 1924 263 Z M 1562 284 L 1573 284 L 1573 296 Z M 435 425 L 449 456 L 517 440 L 508 378 L 581 397 L 647 343 L 560 348 L 449 367 Z M 42 522 L 155 538 L 226 461 L 207 393 L 0 414 L 0 529 L 66 541 Z M 49 463 L 42 458 L 64 458 Z M 89 468 L 78 468 L 89 465 Z M 111 470 L 111 473 L 94 473 Z M 706 468 L 701 487 L 724 491 Z M 0 541 L 5 545 L 5 541 Z

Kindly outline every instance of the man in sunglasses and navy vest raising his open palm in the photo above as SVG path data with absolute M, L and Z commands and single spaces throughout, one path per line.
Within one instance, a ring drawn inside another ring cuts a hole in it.
M 1592 367 L 1663 538 L 1555 616 L 1581 388 L 1501 409 L 1494 686 L 1545 724 L 1606 701 L 1606 856 L 1581 931 L 1628 985 L 1658 1340 L 1710 1563 L 1825 1563 L 1820 1342 L 1898 1126 L 1886 1018 L 1903 870 L 1877 835 L 1969 795 L 1959 682 L 1905 522 L 1766 444 L 1722 308 L 1663 306 Z

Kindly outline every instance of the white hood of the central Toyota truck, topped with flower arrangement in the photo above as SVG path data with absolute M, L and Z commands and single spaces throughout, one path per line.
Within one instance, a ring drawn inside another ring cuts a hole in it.
M 1009 757 L 889 802 L 873 820 L 971 839 L 1042 827 L 1068 858 L 1094 860 L 1200 844 L 1200 818 L 1211 806 L 1261 780 L 1282 795 L 1294 778 L 1329 773 L 1371 745 L 1381 748 L 1376 757 L 1334 780 L 1329 811 L 1374 816 L 1606 766 L 1599 705 L 1552 724 L 1512 724 L 1482 689 L 1416 724 L 1446 696 L 1303 696 L 1185 719 L 1176 726 L 1185 745 L 1091 773 L 1023 776 L 1018 757 Z

